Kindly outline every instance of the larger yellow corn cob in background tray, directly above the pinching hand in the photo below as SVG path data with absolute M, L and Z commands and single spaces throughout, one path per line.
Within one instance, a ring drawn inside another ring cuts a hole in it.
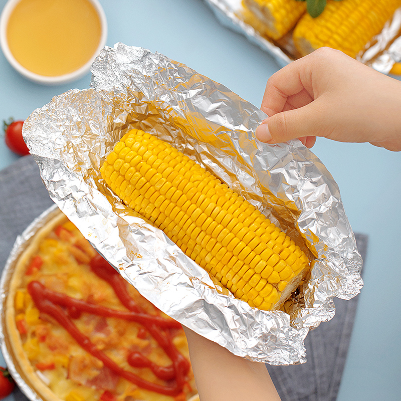
M 400 6 L 401 0 L 327 0 L 319 17 L 305 14 L 298 22 L 295 47 L 302 56 L 327 46 L 355 58 Z

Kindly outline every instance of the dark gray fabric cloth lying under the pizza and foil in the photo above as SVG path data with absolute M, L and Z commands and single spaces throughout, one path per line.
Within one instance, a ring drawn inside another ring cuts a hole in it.
M 0 270 L 19 234 L 53 205 L 31 156 L 0 171 Z M 367 237 L 357 234 L 364 258 Z M 282 401 L 334 401 L 341 380 L 355 316 L 357 298 L 335 300 L 336 315 L 311 331 L 305 340 L 308 361 L 297 366 L 268 366 Z M 26 400 L 16 390 L 15 399 Z M 247 401 L 247 400 L 244 400 Z

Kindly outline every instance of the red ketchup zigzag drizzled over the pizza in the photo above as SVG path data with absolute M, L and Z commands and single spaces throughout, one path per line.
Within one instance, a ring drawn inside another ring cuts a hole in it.
M 71 336 L 91 355 L 100 359 L 105 366 L 115 373 L 131 381 L 137 386 L 155 391 L 160 394 L 175 396 L 182 392 L 186 383 L 186 374 L 189 370 L 189 362 L 174 346 L 171 335 L 163 329 L 180 328 L 181 325 L 175 320 L 164 319 L 160 316 L 150 315 L 140 308 L 129 296 L 125 280 L 104 260 L 100 255 L 95 256 L 90 262 L 91 270 L 103 280 L 106 280 L 120 299 L 122 304 L 129 310 L 121 311 L 107 308 L 101 305 L 91 304 L 82 300 L 71 298 L 65 294 L 47 289 L 38 281 L 28 284 L 28 291 L 35 302 L 36 307 L 43 313 L 53 317 L 63 326 Z M 64 307 L 64 308 L 63 308 Z M 104 352 L 97 349 L 89 337 L 79 331 L 71 318 L 79 317 L 82 312 L 93 313 L 105 317 L 117 317 L 140 324 L 154 337 L 158 344 L 171 359 L 169 366 L 159 366 L 150 361 L 139 351 L 128 354 L 127 360 L 131 366 L 147 367 L 160 379 L 172 381 L 171 385 L 161 385 L 142 379 L 135 373 L 122 369 Z

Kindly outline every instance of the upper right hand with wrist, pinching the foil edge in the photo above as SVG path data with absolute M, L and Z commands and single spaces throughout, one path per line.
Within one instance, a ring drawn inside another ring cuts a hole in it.
M 267 143 L 316 136 L 401 151 L 401 82 L 330 48 L 285 66 L 267 82 L 256 130 Z

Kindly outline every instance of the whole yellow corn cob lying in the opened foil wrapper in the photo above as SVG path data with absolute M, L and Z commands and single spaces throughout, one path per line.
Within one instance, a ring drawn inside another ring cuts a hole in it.
M 261 212 L 149 133 L 126 133 L 100 171 L 127 206 L 251 306 L 277 308 L 307 271 L 306 255 Z

